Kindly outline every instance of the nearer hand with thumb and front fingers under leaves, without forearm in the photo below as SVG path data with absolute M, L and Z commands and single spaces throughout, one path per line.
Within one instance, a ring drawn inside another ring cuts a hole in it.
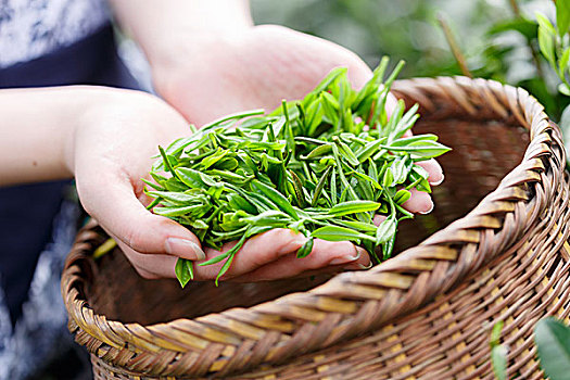
M 178 257 L 201 261 L 218 255 L 202 251 L 198 238 L 185 227 L 145 210 L 142 177 L 157 152 L 189 132 L 188 124 L 157 98 L 136 91 L 103 90 L 75 128 L 68 167 L 75 174 L 86 211 L 112 236 L 137 271 L 145 278 L 175 277 Z M 368 255 L 350 242 L 318 241 L 313 253 L 294 253 L 305 238 L 276 229 L 250 239 L 224 279 L 267 280 L 322 269 L 359 269 Z M 224 246 L 224 251 L 231 248 Z M 195 266 L 197 279 L 215 279 L 219 265 Z

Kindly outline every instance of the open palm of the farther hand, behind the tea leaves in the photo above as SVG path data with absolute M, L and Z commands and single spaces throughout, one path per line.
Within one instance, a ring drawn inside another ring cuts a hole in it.
M 208 46 L 207 55 L 183 60 L 178 69 L 155 73 L 155 85 L 197 125 L 238 111 L 273 110 L 282 99 L 303 98 L 333 67 L 349 67 L 357 87 L 371 75 L 349 50 L 279 26 L 251 28 L 225 43 Z

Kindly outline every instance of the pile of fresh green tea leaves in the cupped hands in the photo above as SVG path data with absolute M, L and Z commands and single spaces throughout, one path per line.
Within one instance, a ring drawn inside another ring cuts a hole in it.
M 415 163 L 449 150 L 434 135 L 404 137 L 417 105 L 405 112 L 400 101 L 388 117 L 402 65 L 383 81 L 384 58 L 358 91 L 338 68 L 268 115 L 251 111 L 192 127 L 192 136 L 160 148 L 155 182 L 147 181 L 149 210 L 188 227 L 205 246 L 238 241 L 199 264 L 225 261 L 216 283 L 248 238 L 273 228 L 308 238 L 297 257 L 311 253 L 314 239 L 352 241 L 378 263 L 390 257 L 398 221 L 413 217 L 402 207 L 409 190 L 430 192 L 428 173 Z M 378 227 L 375 214 L 387 217 Z M 176 275 L 182 287 L 193 279 L 192 262 L 179 258 Z

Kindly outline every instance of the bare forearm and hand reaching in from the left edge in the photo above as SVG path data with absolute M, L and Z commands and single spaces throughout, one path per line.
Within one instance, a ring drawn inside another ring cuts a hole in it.
M 186 119 L 164 101 L 98 87 L 0 90 L 0 115 L 11 128 L 0 140 L 0 161 L 5 163 L 0 185 L 75 175 L 84 207 L 143 277 L 175 277 L 178 257 L 200 262 L 220 254 L 203 250 L 187 228 L 145 210 L 150 200 L 141 178 L 148 176 L 157 145 L 190 131 Z M 267 280 L 370 264 L 364 250 L 350 242 L 320 240 L 311 255 L 297 259 L 304 242 L 286 229 L 253 237 L 223 279 Z M 223 250 L 230 248 L 228 243 Z M 219 267 L 195 269 L 198 279 L 210 280 Z

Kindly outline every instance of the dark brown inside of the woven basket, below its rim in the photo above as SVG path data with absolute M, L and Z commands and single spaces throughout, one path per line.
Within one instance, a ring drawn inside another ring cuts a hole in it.
M 395 252 L 417 244 L 466 215 L 521 162 L 529 142 L 527 129 L 496 121 L 420 118 L 414 131 L 434 132 L 453 151 L 439 160 L 445 180 L 433 189 L 434 211 L 401 225 Z M 249 307 L 288 293 L 306 291 L 329 278 L 223 282 L 218 288 L 212 282 L 193 282 L 182 290 L 176 280 L 140 278 L 118 250 L 98 262 L 94 277 L 86 290 L 87 301 L 94 312 L 109 319 L 142 325 L 194 318 L 237 306 Z

